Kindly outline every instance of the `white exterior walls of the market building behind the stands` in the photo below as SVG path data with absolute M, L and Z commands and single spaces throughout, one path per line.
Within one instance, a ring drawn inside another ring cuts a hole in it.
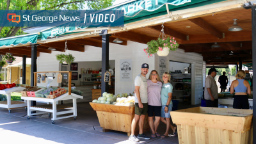
M 109 44 L 109 60 L 115 60 L 116 68 L 116 80 L 115 80 L 115 93 L 131 93 L 134 90 L 134 78 L 141 72 L 141 64 L 148 63 L 149 72 L 151 70 L 159 70 L 159 56 L 154 55 L 153 57 L 148 58 L 143 51 L 147 45 L 140 44 L 136 42 L 128 41 L 127 45 L 118 45 L 118 44 Z M 40 53 L 38 57 L 38 72 L 44 71 L 60 71 L 61 64 L 56 60 L 56 54 L 60 52 L 52 51 L 52 54 Z M 76 57 L 75 62 L 80 61 L 101 61 L 101 48 L 85 46 L 84 52 L 77 51 L 67 51 L 67 53 L 73 54 Z M 191 63 L 195 65 L 195 81 L 192 83 L 192 88 L 195 88 L 193 91 L 193 100 L 192 104 L 199 104 L 199 97 L 202 96 L 202 56 L 196 53 L 185 53 L 184 50 L 178 49 L 176 52 L 170 52 L 167 56 L 168 63 L 169 61 L 180 61 L 184 63 Z M 120 59 L 132 59 L 132 81 L 131 82 L 121 82 L 120 81 Z M 169 70 L 169 67 L 168 67 Z M 81 71 L 80 69 L 77 70 Z M 46 81 L 47 83 L 47 81 Z M 45 84 L 38 84 L 38 86 L 46 86 Z M 56 79 L 51 84 L 52 86 L 58 86 Z

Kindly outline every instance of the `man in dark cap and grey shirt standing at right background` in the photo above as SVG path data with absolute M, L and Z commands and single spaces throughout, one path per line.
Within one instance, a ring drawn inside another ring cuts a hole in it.
M 204 91 L 204 99 L 206 102 L 206 107 L 214 107 L 218 108 L 218 86 L 214 77 L 216 77 L 217 70 L 215 68 L 211 68 L 208 72 L 208 76 L 205 79 L 205 88 Z

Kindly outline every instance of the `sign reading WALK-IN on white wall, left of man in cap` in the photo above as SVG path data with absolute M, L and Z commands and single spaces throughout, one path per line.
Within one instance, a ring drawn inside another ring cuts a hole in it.
M 132 59 L 120 60 L 120 81 L 132 81 Z

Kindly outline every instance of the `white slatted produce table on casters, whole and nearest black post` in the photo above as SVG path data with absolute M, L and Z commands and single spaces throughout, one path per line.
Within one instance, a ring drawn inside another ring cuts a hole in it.
M 77 116 L 76 99 L 79 99 L 79 98 L 83 99 L 83 96 L 76 95 L 74 93 L 71 93 L 71 95 L 68 95 L 68 93 L 65 93 L 65 94 L 63 94 L 60 97 L 57 97 L 55 99 L 47 99 L 47 98 L 41 98 L 41 97 L 21 97 L 21 99 L 28 100 L 28 119 L 32 115 L 49 113 L 49 116 L 51 116 L 50 113 L 52 113 L 52 119 L 51 119 L 52 124 L 55 123 L 55 120 L 60 120 L 60 119 L 63 119 L 63 118 L 74 117 L 74 120 L 76 120 L 76 116 Z M 59 100 L 70 100 L 70 99 L 73 100 L 73 107 L 57 105 L 57 102 Z M 40 102 L 51 102 L 52 104 L 31 106 L 31 102 L 30 102 L 31 100 L 40 101 Z M 58 112 L 57 111 L 58 109 L 66 109 L 67 111 Z M 31 111 L 44 111 L 44 112 L 32 113 L 31 114 Z M 57 117 L 58 115 L 63 115 L 63 114 L 67 114 L 67 113 L 73 113 L 73 115 Z

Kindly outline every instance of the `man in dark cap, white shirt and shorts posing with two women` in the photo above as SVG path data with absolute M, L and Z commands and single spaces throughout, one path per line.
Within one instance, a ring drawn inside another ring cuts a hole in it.
M 141 74 L 135 77 L 134 84 L 135 84 L 135 115 L 132 120 L 131 125 L 131 136 L 129 136 L 130 141 L 138 142 L 138 138 L 144 138 L 149 140 L 148 136 L 143 134 L 143 125 L 145 116 L 148 113 L 148 93 L 147 93 L 147 79 L 146 75 L 148 74 L 148 64 L 143 63 L 141 65 Z M 138 137 L 135 136 L 135 129 L 136 125 L 139 121 L 140 132 Z

